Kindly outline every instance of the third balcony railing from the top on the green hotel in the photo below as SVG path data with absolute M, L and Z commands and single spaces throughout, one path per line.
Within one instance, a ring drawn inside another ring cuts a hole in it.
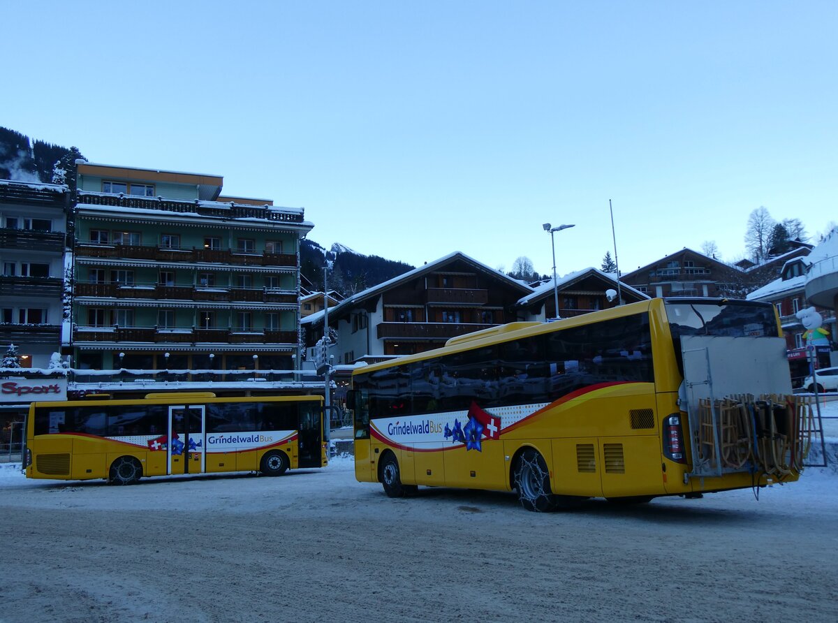
M 111 299 L 155 299 L 215 301 L 221 303 L 272 303 L 296 305 L 297 293 L 267 288 L 192 288 L 158 283 L 122 285 L 120 283 L 76 283 L 75 296 Z

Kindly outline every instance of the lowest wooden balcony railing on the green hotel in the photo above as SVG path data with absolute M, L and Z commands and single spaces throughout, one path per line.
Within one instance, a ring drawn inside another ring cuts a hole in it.
M 76 342 L 118 344 L 296 344 L 297 331 L 235 329 L 160 329 L 155 327 L 77 327 Z

